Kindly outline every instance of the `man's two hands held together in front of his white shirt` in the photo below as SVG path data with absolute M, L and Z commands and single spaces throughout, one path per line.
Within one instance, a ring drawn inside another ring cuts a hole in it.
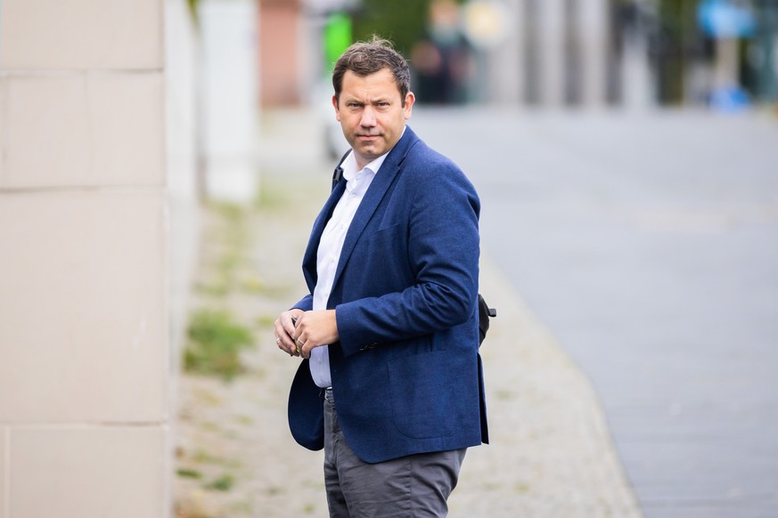
M 283 312 L 275 320 L 275 336 L 282 351 L 310 358 L 314 347 L 333 344 L 340 338 L 335 310 Z

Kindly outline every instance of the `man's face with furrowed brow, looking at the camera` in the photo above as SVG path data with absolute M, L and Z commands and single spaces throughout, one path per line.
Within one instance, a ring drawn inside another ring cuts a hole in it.
M 414 93 L 407 93 L 403 106 L 389 69 L 364 77 L 346 71 L 340 103 L 333 95 L 332 105 L 360 169 L 387 153 L 400 140 L 414 100 Z

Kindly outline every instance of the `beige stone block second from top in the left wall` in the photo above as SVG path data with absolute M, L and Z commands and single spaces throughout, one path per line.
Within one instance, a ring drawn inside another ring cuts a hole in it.
M 0 187 L 161 185 L 161 74 L 7 77 Z

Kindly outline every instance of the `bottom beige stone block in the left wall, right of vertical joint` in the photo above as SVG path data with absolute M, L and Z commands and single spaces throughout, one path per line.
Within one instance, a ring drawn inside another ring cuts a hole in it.
M 167 518 L 165 430 L 12 430 L 8 518 Z

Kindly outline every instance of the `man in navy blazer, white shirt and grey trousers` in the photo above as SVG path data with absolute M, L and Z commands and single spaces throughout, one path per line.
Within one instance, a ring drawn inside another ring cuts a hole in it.
M 311 292 L 275 320 L 303 358 L 291 433 L 324 449 L 331 516 L 445 516 L 465 450 L 487 442 L 479 198 L 405 125 L 414 93 L 388 42 L 351 45 L 332 84 L 344 180 L 308 241 Z

